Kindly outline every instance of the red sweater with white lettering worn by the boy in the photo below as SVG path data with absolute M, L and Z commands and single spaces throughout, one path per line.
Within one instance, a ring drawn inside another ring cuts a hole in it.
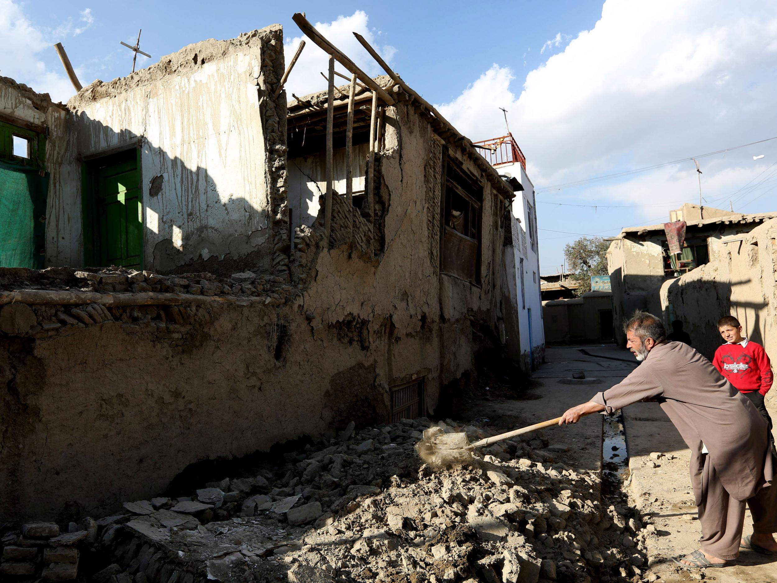
M 713 365 L 741 393 L 758 391 L 765 395 L 772 388 L 772 363 L 761 344 L 750 340 L 744 344 L 719 346 Z

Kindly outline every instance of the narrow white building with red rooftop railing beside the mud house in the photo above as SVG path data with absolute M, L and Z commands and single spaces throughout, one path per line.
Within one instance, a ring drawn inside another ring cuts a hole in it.
M 500 175 L 513 185 L 510 222 L 512 243 L 504 247 L 506 271 L 515 274 L 509 281 L 510 302 L 517 315 L 518 342 L 521 368 L 535 370 L 545 359 L 545 330 L 542 322 L 542 295 L 539 279 L 539 239 L 537 236 L 537 206 L 534 184 L 526 175 L 526 159 L 521 148 L 507 134 L 477 142 L 481 153 Z M 507 313 L 507 310 L 503 309 Z M 510 330 L 510 326 L 507 326 Z M 510 338 L 503 339 L 510 344 Z

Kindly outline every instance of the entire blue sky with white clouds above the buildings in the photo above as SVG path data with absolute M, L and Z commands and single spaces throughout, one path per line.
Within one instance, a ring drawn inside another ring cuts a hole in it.
M 214 9 L 214 7 L 216 7 Z M 127 75 L 207 38 L 271 23 L 287 51 L 296 11 L 372 75 L 351 30 L 473 140 L 503 133 L 498 107 L 538 188 L 689 158 L 777 136 L 777 3 L 631 2 L 50 2 L 0 0 L 0 75 L 55 99 L 72 89 L 61 41 L 84 85 Z M 322 55 L 305 48 L 289 83 L 321 89 Z M 318 78 L 318 79 L 316 79 Z M 754 155 L 764 154 L 757 161 Z M 699 159 L 706 204 L 777 210 L 777 140 Z M 538 193 L 541 271 L 555 273 L 576 233 L 612 236 L 668 220 L 699 200 L 692 162 Z M 589 206 L 566 206 L 566 205 Z M 610 208 L 608 208 L 610 207 Z

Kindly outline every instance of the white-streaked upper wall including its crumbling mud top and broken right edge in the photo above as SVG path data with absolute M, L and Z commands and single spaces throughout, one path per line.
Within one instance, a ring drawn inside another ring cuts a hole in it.
M 70 100 L 79 154 L 140 150 L 146 267 L 287 271 L 275 255 L 289 243 L 285 103 L 272 97 L 283 70 L 274 25 L 189 45 Z

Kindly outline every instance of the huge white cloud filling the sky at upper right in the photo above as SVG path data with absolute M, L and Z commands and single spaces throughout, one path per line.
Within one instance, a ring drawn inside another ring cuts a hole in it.
M 498 108 L 505 107 L 538 187 L 648 166 L 775 134 L 775 37 L 775 3 L 607 0 L 594 28 L 529 72 L 520 94 L 513 70 L 495 64 L 439 108 L 477 140 L 503 133 Z M 767 144 L 771 163 L 777 145 Z M 741 186 L 760 172 L 745 163 L 758 153 L 745 148 L 700 161 L 706 196 L 736 190 L 737 180 Z M 698 182 L 690 164 L 553 197 L 692 201 Z

